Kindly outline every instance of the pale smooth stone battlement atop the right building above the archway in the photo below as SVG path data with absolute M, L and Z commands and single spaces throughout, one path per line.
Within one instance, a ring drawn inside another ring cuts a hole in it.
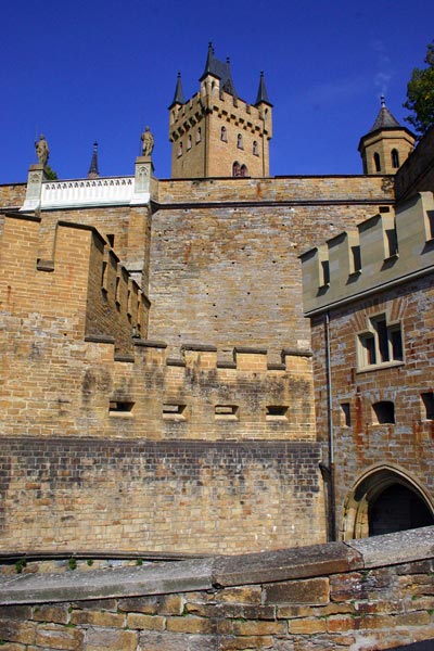
M 301 256 L 306 315 L 433 270 L 431 192 L 381 212 Z

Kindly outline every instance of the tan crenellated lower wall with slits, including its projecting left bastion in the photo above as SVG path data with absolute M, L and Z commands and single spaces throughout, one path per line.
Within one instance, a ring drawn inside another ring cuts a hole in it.
M 131 336 L 140 292 L 98 232 L 44 232 L 4 218 L 1 548 L 323 540 L 309 354 Z

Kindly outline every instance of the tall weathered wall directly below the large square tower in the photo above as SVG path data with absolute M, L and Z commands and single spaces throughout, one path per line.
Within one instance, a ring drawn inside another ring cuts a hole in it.
M 308 347 L 297 256 L 392 199 L 366 177 L 161 181 L 150 337 Z

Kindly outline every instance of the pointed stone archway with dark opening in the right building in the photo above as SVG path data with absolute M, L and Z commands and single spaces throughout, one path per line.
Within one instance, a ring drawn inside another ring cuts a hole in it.
M 434 505 L 420 484 L 398 467 L 370 469 L 344 506 L 341 538 L 368 538 L 434 524 Z

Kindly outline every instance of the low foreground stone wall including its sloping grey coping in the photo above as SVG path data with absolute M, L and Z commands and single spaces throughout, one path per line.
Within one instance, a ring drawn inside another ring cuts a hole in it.
M 0 639 L 5 651 L 379 651 L 432 642 L 433 544 L 430 527 L 232 559 L 3 576 Z

